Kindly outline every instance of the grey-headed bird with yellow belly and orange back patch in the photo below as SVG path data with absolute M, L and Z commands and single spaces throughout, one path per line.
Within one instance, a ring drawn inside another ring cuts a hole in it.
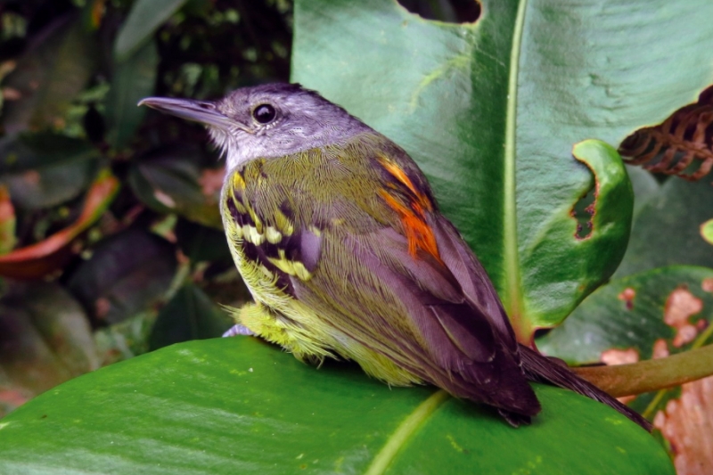
M 299 84 L 217 101 L 139 102 L 199 122 L 225 156 L 220 207 L 253 302 L 228 334 L 319 364 L 343 358 L 391 386 L 431 384 L 513 427 L 541 410 L 530 381 L 651 424 L 566 364 L 516 340 L 493 284 L 408 153 Z

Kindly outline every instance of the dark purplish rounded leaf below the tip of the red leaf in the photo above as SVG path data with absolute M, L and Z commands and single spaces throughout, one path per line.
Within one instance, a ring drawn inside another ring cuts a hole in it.
M 129 229 L 101 242 L 70 276 L 70 291 L 104 323 L 117 323 L 160 301 L 176 272 L 174 247 Z

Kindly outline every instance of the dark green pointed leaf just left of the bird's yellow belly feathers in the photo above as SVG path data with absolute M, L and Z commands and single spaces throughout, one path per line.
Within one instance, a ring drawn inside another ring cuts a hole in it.
M 231 326 L 224 310 L 193 283 L 181 287 L 161 308 L 149 339 L 151 349 L 189 340 L 219 337 Z

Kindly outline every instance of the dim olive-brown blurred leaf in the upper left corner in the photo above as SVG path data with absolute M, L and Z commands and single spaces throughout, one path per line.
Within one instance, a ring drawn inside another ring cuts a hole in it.
M 3 81 L 20 94 L 20 99 L 4 102 L 5 132 L 61 128 L 72 100 L 94 72 L 96 45 L 77 16 L 45 27 Z

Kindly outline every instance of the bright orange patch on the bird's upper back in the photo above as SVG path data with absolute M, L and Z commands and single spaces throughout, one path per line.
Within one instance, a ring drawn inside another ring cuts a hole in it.
M 381 190 L 381 197 L 401 218 L 401 223 L 406 230 L 408 253 L 415 258 L 418 251 L 423 250 L 436 258 L 439 263 L 443 264 L 440 254 L 438 253 L 436 236 L 426 223 L 426 212 L 433 210 L 433 203 L 430 202 L 428 196 L 419 192 L 411 179 L 406 175 L 406 172 L 399 168 L 397 164 L 389 161 L 385 157 L 381 157 L 379 161 L 383 168 L 385 168 L 391 176 L 394 176 L 400 184 L 406 186 L 410 192 L 411 200 L 409 203 L 410 206 L 408 206 L 394 198 L 387 190 Z

